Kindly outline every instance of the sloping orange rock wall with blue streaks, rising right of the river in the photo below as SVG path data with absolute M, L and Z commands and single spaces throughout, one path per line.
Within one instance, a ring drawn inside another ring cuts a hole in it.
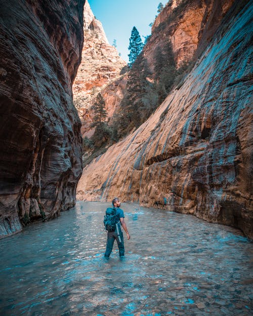
M 78 199 L 153 206 L 166 198 L 169 210 L 253 237 L 252 9 L 231 8 L 182 86 L 83 170 Z

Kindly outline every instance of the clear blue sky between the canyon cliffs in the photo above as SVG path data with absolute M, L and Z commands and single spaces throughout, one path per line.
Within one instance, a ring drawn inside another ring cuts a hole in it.
M 149 26 L 155 19 L 159 0 L 88 0 L 92 12 L 105 30 L 110 44 L 116 39 L 117 50 L 121 57 L 129 62 L 129 39 L 135 26 L 144 42 L 144 37 L 151 34 Z

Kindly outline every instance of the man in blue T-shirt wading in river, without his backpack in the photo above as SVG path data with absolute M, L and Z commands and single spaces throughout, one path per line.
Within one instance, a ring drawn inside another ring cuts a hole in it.
M 116 239 L 117 244 L 118 244 L 119 257 L 123 258 L 125 249 L 124 249 L 123 233 L 122 233 L 121 227 L 125 231 L 126 237 L 128 239 L 130 239 L 130 235 L 129 235 L 128 229 L 126 228 L 126 224 L 124 221 L 124 212 L 123 212 L 123 210 L 121 210 L 119 208 L 120 207 L 119 199 L 114 198 L 112 200 L 112 205 L 114 208 L 116 208 L 116 222 L 120 222 L 120 224 L 119 223 L 117 224 L 118 227 L 114 232 L 108 232 L 108 234 L 107 234 L 107 244 L 106 244 L 105 257 L 109 258 L 110 254 L 112 252 L 114 240 Z

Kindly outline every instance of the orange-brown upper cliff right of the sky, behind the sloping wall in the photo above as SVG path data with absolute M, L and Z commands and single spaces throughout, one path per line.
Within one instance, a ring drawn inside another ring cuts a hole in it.
M 152 36 L 144 48 L 151 68 L 153 49 L 171 40 L 178 67 L 202 52 L 234 0 L 173 0 L 168 2 L 152 26 Z

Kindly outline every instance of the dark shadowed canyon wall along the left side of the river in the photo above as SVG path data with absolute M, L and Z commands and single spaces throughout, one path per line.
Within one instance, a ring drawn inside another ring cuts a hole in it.
M 72 83 L 83 0 L 3 0 L 0 19 L 0 238 L 75 204 L 80 120 Z

